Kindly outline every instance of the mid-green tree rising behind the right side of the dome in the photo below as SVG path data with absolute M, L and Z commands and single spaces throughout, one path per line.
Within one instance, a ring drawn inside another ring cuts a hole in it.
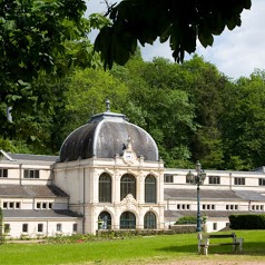
M 122 67 L 126 70 L 117 68 L 121 67 L 115 66 L 114 75 L 129 88 L 124 112 L 154 137 L 167 167 L 187 166 L 192 156 L 188 138 L 196 128 L 194 106 L 181 90 L 180 66 L 163 58 L 144 62 L 134 57 Z

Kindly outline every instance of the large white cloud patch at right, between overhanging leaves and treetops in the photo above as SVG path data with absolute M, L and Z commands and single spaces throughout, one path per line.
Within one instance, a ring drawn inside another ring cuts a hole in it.
M 265 62 L 265 2 L 253 0 L 251 10 L 242 14 L 242 26 L 233 31 L 225 30 L 215 37 L 213 47 L 198 47 L 197 52 L 216 65 L 218 70 L 232 78 L 249 76 L 256 68 L 264 69 Z

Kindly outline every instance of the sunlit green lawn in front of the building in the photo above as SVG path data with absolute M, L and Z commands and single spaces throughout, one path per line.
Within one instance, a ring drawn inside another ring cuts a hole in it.
M 229 233 L 229 232 L 226 232 Z M 0 245 L 0 264 L 88 265 L 151 264 L 180 261 L 236 261 L 265 263 L 265 230 L 236 230 L 244 238 L 243 252 L 232 246 L 209 247 L 209 255 L 197 254 L 197 235 L 164 235 L 115 241 L 91 241 L 73 244 L 4 244 Z

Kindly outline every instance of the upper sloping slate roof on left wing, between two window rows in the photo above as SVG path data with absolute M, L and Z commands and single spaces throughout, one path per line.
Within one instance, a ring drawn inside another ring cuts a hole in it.
M 55 185 L 0 185 L 0 197 L 69 197 Z

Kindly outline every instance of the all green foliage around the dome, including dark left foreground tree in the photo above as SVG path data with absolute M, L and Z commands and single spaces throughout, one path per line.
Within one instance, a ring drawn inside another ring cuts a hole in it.
M 196 55 L 178 65 L 144 61 L 137 49 L 125 66 L 105 71 L 88 33 L 109 20 L 85 19 L 82 0 L 4 0 L 1 8 L 1 149 L 58 155 L 67 135 L 105 111 L 108 98 L 111 111 L 154 137 L 166 167 L 197 159 L 213 169 L 264 165 L 263 70 L 232 80 Z

